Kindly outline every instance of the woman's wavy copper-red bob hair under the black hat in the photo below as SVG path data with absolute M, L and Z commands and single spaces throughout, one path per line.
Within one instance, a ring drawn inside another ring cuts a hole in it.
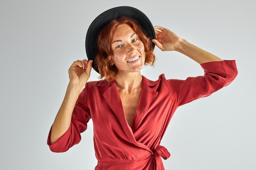
M 117 75 L 118 71 L 115 65 L 110 64 L 110 60 L 113 55 L 111 48 L 113 34 L 116 27 L 120 24 L 128 24 L 131 26 L 143 42 L 146 53 L 145 65 L 150 64 L 153 66 L 155 63 L 155 55 L 153 54 L 154 49 L 151 44 L 152 42 L 150 38 L 146 36 L 146 33 L 141 29 L 141 26 L 137 23 L 137 21 L 128 17 L 112 20 L 99 33 L 96 47 L 97 54 L 94 60 L 94 66 L 99 70 L 100 78 L 102 79 L 105 77 L 108 82 L 115 80 L 115 76 Z

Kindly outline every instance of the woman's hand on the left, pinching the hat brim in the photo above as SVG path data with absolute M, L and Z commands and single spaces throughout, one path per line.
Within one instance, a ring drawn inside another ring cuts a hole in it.
M 77 60 L 68 70 L 70 83 L 84 86 L 92 70 L 92 60 Z

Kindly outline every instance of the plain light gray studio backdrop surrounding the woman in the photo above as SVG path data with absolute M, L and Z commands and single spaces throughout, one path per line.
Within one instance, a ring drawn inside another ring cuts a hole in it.
M 117 6 L 140 9 L 153 25 L 225 60 L 238 77 L 213 95 L 181 106 L 161 145 L 166 170 L 256 169 L 255 0 L 0 0 L 0 169 L 93 170 L 92 121 L 80 144 L 53 153 L 47 135 L 68 84 L 67 70 L 86 57 L 85 35 L 95 17 Z M 177 52 L 155 49 L 156 80 L 202 75 Z M 90 81 L 97 80 L 92 71 Z

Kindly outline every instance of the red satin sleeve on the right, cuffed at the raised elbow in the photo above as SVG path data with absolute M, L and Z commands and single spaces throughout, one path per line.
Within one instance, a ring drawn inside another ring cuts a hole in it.
M 224 60 L 201 64 L 204 76 L 188 77 L 186 80 L 171 80 L 167 83 L 175 87 L 172 93 L 181 106 L 195 99 L 206 97 L 230 84 L 237 75 L 236 62 Z

